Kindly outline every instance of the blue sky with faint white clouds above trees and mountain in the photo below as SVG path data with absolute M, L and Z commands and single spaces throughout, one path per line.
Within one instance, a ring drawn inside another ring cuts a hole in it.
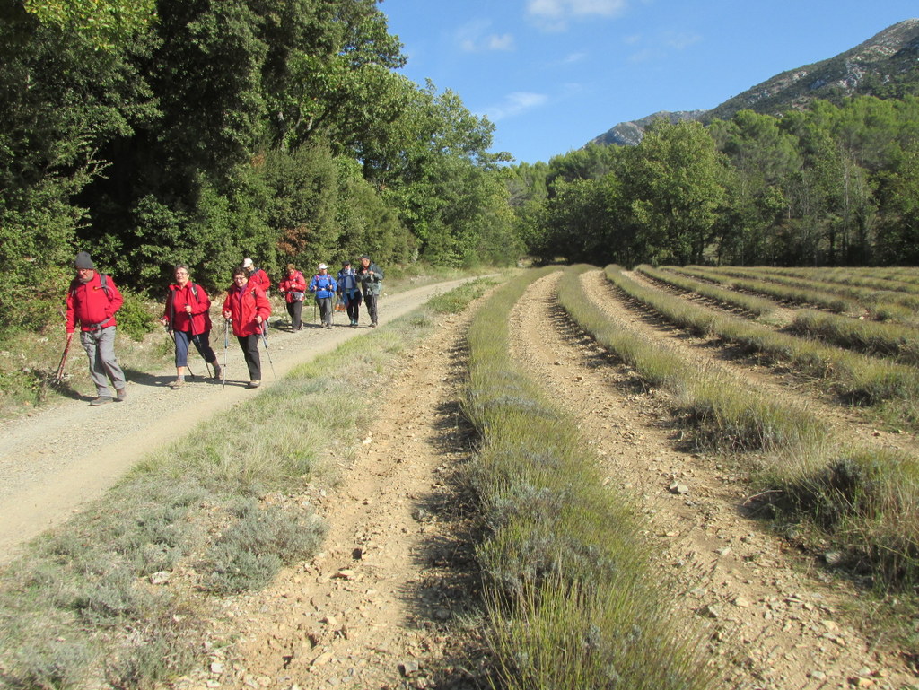
M 854 48 L 915 0 L 383 0 L 419 85 L 494 122 L 494 151 L 548 162 L 618 122 L 715 107 Z

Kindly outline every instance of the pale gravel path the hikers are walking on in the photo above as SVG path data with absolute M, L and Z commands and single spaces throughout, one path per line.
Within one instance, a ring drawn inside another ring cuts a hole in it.
M 413 310 L 461 282 L 385 295 L 380 300 L 380 323 Z M 278 378 L 295 365 L 368 332 L 365 328 L 350 328 L 342 321 L 339 315 L 332 331 L 310 324 L 296 334 L 273 330 L 268 347 Z M 221 340 L 222 345 L 222 333 L 214 340 Z M 70 366 L 86 366 L 82 352 L 72 355 Z M 60 524 L 80 506 L 101 495 L 154 447 L 257 393 L 244 388 L 248 375 L 239 345 L 232 337 L 225 387 L 201 379 L 205 373 L 203 362 L 197 353 L 192 355 L 189 363 L 199 379 L 184 390 L 166 387 L 176 378 L 175 368 L 155 374 L 128 372 L 126 402 L 89 407 L 86 402 L 68 401 L 4 424 L 0 432 L 0 564 L 15 556 L 18 544 Z M 218 356 L 222 362 L 222 348 Z M 274 384 L 271 370 L 263 349 L 265 388 Z

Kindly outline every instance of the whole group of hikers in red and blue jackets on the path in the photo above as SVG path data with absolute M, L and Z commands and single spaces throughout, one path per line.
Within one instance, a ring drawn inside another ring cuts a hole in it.
M 111 277 L 96 271 L 92 258 L 80 252 L 74 260 L 74 277 L 67 290 L 67 345 L 64 348 L 59 375 L 66 359 L 67 350 L 77 326 L 80 328 L 80 343 L 89 360 L 89 375 L 96 385 L 96 398 L 90 405 L 103 405 L 115 400 L 124 401 L 128 395 L 124 371 L 115 356 L 115 313 L 119 311 L 122 297 Z M 177 390 L 185 385 L 188 370 L 189 344 L 194 344 L 204 361 L 212 368 L 213 378 L 224 380 L 225 371 L 217 361 L 217 354 L 210 345 L 210 297 L 207 291 L 191 280 L 188 266 L 175 267 L 176 282 L 170 285 L 166 294 L 165 311 L 160 322 L 176 345 L 176 380 L 169 387 Z M 278 288 L 284 296 L 290 317 L 291 332 L 303 328 L 303 301 L 312 293 L 320 313 L 323 328 L 332 328 L 335 301 L 340 302 L 347 312 L 351 326 L 360 320 L 360 305 L 367 305 L 369 327 L 378 323 L 377 300 L 382 289 L 383 272 L 368 255 L 360 257 L 357 268 L 345 261 L 336 277 L 329 273 L 328 266 L 320 264 L 309 281 L 293 264 L 287 266 L 287 277 Z M 267 320 L 271 315 L 268 289 L 271 279 L 267 273 L 255 266 L 251 258 L 245 258 L 240 266 L 233 268 L 233 284 L 227 290 L 221 313 L 226 328 L 233 329 L 233 335 L 243 350 L 249 382 L 246 388 L 261 385 L 262 365 L 258 351 L 259 340 L 265 340 L 267 347 Z M 109 386 L 109 380 L 111 386 Z M 115 389 L 112 396 L 111 388 Z

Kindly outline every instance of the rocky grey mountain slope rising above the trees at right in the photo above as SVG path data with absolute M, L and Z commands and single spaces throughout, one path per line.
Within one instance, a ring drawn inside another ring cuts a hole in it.
M 803 110 L 823 99 L 839 104 L 850 96 L 902 97 L 919 94 L 919 19 L 906 19 L 834 58 L 777 74 L 710 110 L 662 111 L 620 122 L 594 143 L 634 145 L 655 119 L 678 122 L 730 119 L 739 110 L 767 115 Z

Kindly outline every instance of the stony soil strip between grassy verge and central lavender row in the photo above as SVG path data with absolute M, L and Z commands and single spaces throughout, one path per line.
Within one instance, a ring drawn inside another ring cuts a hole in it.
M 388 375 L 364 443 L 335 458 L 335 489 L 292 499 L 329 525 L 323 552 L 228 600 L 210 670 L 186 687 L 476 686 L 450 632 L 478 583 L 451 481 L 469 449 L 458 389 L 469 318 L 443 319 Z

